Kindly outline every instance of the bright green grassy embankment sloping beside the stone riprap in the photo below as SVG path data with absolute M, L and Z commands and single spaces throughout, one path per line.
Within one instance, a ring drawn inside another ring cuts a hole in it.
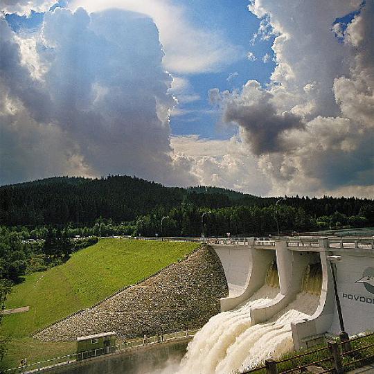
M 73 253 L 58 267 L 26 276 L 8 296 L 6 308 L 29 306 L 28 312 L 6 315 L 2 334 L 9 336 L 5 363 L 15 367 L 28 362 L 74 353 L 75 343 L 47 343 L 30 338 L 39 328 L 154 274 L 183 258 L 197 243 L 105 239 Z

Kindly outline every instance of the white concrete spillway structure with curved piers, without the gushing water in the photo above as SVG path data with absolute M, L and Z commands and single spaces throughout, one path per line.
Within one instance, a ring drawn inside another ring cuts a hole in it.
M 336 272 L 346 331 L 353 335 L 373 330 L 373 237 L 213 239 L 208 244 L 220 256 L 229 284 L 229 297 L 221 299 L 222 311 L 231 310 L 251 297 L 258 290 L 267 266 L 274 259 L 278 267 L 280 292 L 267 305 L 251 308 L 252 323 L 269 321 L 294 301 L 296 295 L 303 291 L 303 287 L 304 291 L 305 287 L 320 290 L 314 313 L 310 317 L 292 321 L 294 349 L 306 348 L 321 335 L 339 334 L 332 267 Z M 338 256 L 339 263 L 330 263 L 331 256 Z M 242 259 L 243 257 L 245 259 Z M 243 263 L 250 264 L 247 275 L 242 269 Z M 239 271 L 235 276 L 236 264 Z M 310 277 L 309 283 L 312 283 L 305 285 L 305 274 L 308 272 L 316 276 Z

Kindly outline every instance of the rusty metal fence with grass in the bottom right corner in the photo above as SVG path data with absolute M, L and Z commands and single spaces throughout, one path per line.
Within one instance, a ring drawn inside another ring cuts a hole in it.
M 374 333 L 355 337 L 349 341 L 329 342 L 327 347 L 312 350 L 308 353 L 275 361 L 267 359 L 265 365 L 252 368 L 241 374 L 289 374 L 303 373 L 308 366 L 321 366 L 319 374 L 342 374 L 359 366 L 374 362 L 374 344 L 366 344 L 365 340 L 374 337 Z M 372 339 L 371 339 L 372 341 Z M 295 360 L 297 364 L 295 364 Z

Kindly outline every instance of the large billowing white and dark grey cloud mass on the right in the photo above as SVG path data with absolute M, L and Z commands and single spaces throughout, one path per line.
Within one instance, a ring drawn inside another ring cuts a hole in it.
M 253 0 L 249 10 L 262 17 L 258 35 L 275 37 L 271 82 L 211 96 L 258 156 L 270 193 L 374 197 L 373 1 Z M 341 33 L 336 20 L 353 12 Z

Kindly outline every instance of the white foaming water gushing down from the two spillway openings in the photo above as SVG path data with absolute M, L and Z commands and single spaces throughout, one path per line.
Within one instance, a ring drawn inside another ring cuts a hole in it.
M 250 308 L 265 305 L 277 292 L 264 286 L 237 310 L 212 317 L 188 345 L 179 368 L 163 373 L 229 374 L 292 350 L 291 322 L 310 317 L 317 309 L 319 296 L 298 294 L 269 323 L 251 326 Z

